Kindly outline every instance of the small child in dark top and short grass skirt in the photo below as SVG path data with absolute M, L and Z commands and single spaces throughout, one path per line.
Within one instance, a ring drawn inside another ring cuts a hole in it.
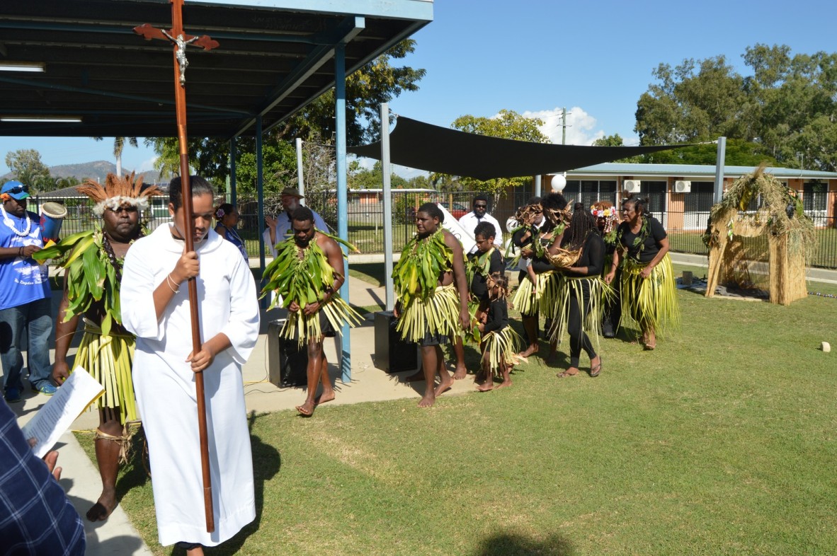
M 493 273 L 488 278 L 488 310 L 479 324 L 485 382 L 477 387 L 480 392 L 494 388 L 494 379 L 502 378 L 497 388 L 511 386 L 509 373 L 518 359 L 521 337 L 509 326 L 509 310 L 506 299 L 509 296 L 509 281 L 505 274 Z

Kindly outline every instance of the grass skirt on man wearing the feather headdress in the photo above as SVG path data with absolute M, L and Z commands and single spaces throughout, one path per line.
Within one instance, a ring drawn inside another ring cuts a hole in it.
M 105 387 L 97 405 L 119 409 L 120 422 L 136 421 L 136 398 L 131 365 L 134 360 L 134 337 L 130 334 L 103 336 L 101 329 L 85 319 L 85 334 L 75 354 L 75 366 L 84 367 Z

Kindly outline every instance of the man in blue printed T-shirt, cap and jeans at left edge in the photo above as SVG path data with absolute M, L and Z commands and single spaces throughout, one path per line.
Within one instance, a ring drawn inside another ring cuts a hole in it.
M 0 361 L 3 361 L 3 397 L 20 401 L 23 391 L 23 329 L 29 384 L 32 390 L 53 395 L 49 379 L 49 333 L 52 332 L 52 293 L 45 264 L 32 256 L 44 247 L 39 217 L 26 210 L 29 187 L 7 181 L 0 189 Z

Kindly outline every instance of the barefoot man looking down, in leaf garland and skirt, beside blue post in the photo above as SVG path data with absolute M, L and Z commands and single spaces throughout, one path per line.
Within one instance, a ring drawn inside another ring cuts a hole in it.
M 264 270 L 267 283 L 262 297 L 275 291 L 278 294 L 275 304 L 281 296 L 290 313 L 280 336 L 296 339 L 300 346 L 307 345 L 308 395 L 305 403 L 296 406 L 296 411 L 309 417 L 316 406 L 334 400 L 322 340 L 334 337 L 343 324 L 354 326 L 361 321 L 360 315 L 338 293 L 346 280 L 338 242 L 352 251 L 357 251 L 357 247 L 314 227 L 314 214 L 308 207 L 294 211 L 290 229 L 293 237 L 276 246 L 276 258 Z M 316 398 L 320 383 L 322 394 Z

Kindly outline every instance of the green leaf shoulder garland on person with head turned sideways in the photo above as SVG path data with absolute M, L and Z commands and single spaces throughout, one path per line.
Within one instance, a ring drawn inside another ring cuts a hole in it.
M 413 237 L 393 268 L 393 283 L 402 304 L 428 298 L 439 284 L 439 276 L 452 268 L 454 251 L 444 242 L 441 228 L 429 237 Z

